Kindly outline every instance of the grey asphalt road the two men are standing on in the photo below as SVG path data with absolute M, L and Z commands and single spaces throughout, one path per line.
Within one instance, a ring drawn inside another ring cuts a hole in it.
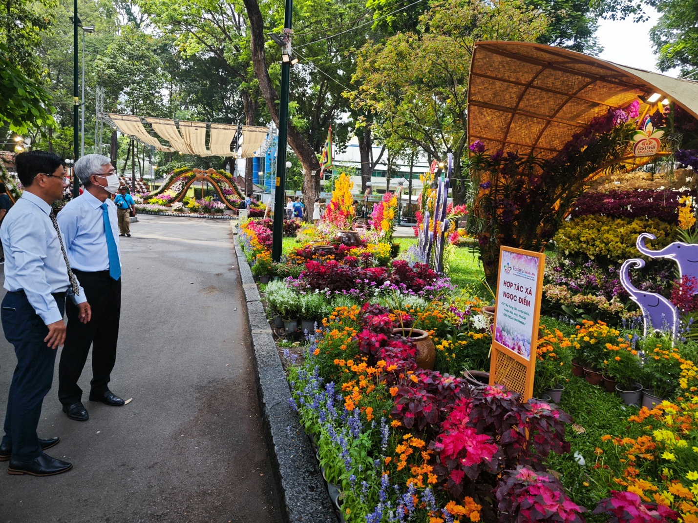
M 72 462 L 73 470 L 9 476 L 0 464 L 1 523 L 283 520 L 230 224 L 139 220 L 131 238 L 120 238 L 124 287 L 110 383 L 133 402 L 87 401 L 88 359 L 80 388 L 90 419 L 69 420 L 57 396 L 57 358 L 38 433 L 61 437 L 47 453 Z M 0 336 L 0 419 L 15 363 Z

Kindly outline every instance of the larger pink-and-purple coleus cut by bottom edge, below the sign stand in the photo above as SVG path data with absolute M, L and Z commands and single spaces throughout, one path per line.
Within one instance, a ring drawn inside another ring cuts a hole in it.
M 584 523 L 580 514 L 586 508 L 567 498 L 563 485 L 546 473 L 519 466 L 499 483 L 496 494 L 502 523 Z

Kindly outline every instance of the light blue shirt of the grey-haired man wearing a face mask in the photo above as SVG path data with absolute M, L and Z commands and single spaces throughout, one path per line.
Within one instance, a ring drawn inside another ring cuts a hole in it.
M 119 250 L 119 220 L 117 206 L 106 199 L 107 214 L 112 226 L 114 241 Z M 109 270 L 109 251 L 107 236 L 104 232 L 104 217 L 99 201 L 88 190 L 75 199 L 71 199 L 58 213 L 58 225 L 63 234 L 63 243 L 68 252 L 70 266 L 78 271 L 94 273 Z M 121 255 L 119 255 L 121 265 Z

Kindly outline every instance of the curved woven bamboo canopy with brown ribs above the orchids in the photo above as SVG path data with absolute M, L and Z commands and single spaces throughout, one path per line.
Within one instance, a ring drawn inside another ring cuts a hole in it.
M 650 102 L 653 95 L 658 100 Z M 651 114 L 665 98 L 698 118 L 697 82 L 548 45 L 477 42 L 470 63 L 468 142 L 481 140 L 489 153 L 502 149 L 551 158 L 609 108 L 640 100 L 640 115 Z

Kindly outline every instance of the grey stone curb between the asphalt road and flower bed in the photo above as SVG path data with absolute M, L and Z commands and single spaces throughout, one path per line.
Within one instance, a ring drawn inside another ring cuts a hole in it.
M 237 235 L 237 227 L 231 224 L 231 229 Z M 233 243 L 245 292 L 260 410 L 265 421 L 267 443 L 274 448 L 272 463 L 286 504 L 288 522 L 336 523 L 332 501 L 313 448 L 297 412 L 288 403 L 291 391 L 252 271 L 237 238 Z

